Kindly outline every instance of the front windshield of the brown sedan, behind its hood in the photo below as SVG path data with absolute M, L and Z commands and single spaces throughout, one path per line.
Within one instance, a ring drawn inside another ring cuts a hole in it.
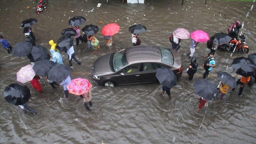
M 126 49 L 114 53 L 112 65 L 115 72 L 127 64 Z

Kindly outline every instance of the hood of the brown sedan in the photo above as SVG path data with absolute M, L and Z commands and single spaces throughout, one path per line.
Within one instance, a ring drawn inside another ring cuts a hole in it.
M 93 64 L 93 75 L 102 76 L 112 74 L 113 71 L 110 69 L 109 59 L 112 53 L 103 55 L 94 62 Z

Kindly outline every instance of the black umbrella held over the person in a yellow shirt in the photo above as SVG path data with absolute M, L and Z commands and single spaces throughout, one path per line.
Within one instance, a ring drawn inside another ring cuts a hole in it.
M 226 85 L 229 85 L 231 88 L 237 88 L 237 82 L 236 82 L 236 79 L 226 73 L 226 72 L 222 72 L 222 73 L 219 73 L 217 72 L 217 75 L 218 75 L 218 78 Z

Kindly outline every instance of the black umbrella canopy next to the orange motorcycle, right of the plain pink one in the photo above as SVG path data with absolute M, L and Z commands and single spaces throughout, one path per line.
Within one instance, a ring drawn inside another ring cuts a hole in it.
M 232 38 L 226 33 L 216 33 L 211 38 L 211 43 L 215 43 L 217 45 L 222 45 L 228 43 Z

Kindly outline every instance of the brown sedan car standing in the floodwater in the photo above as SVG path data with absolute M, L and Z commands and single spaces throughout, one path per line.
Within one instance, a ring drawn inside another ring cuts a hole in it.
M 156 69 L 163 66 L 181 77 L 181 57 L 175 49 L 128 47 L 97 58 L 92 67 L 93 82 L 99 86 L 157 82 Z

